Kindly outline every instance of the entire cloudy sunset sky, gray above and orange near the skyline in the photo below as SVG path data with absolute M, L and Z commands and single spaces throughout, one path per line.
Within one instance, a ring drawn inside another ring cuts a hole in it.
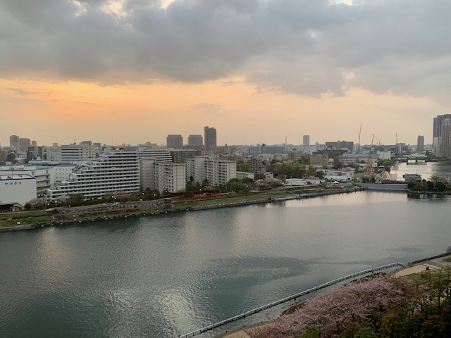
M 0 142 L 432 142 L 451 1 L 0 0 Z

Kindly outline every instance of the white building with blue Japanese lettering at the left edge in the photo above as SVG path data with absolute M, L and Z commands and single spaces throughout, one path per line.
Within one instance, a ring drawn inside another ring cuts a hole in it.
M 0 174 L 1 205 L 25 206 L 36 196 L 36 177 L 28 174 Z

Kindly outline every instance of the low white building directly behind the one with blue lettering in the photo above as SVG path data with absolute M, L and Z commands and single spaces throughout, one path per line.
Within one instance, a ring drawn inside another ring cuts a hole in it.
M 31 175 L 36 178 L 36 194 L 44 194 L 55 184 L 55 168 L 36 165 L 4 165 L 0 167 L 0 175 Z

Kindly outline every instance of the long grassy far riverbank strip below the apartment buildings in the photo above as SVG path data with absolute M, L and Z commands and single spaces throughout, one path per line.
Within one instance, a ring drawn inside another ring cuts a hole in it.
M 268 204 L 292 199 L 307 199 L 333 194 L 350 194 L 362 192 L 364 187 L 349 187 L 343 189 L 326 189 L 323 191 L 309 191 L 293 189 L 282 194 L 277 192 L 264 192 L 242 196 L 226 196 L 203 201 L 134 201 L 125 204 L 98 204 L 94 206 L 80 206 L 75 208 L 59 207 L 47 211 L 48 221 L 22 224 L 22 220 L 29 220 L 26 215 L 18 224 L 4 225 L 0 232 L 35 230 L 44 227 L 57 227 L 64 225 L 81 225 L 93 222 L 121 220 L 124 218 L 155 217 L 171 213 L 210 210 L 214 208 L 230 208 L 249 206 L 254 204 Z M 30 211 L 32 213 L 32 211 Z M 10 223 L 13 219 L 8 219 Z

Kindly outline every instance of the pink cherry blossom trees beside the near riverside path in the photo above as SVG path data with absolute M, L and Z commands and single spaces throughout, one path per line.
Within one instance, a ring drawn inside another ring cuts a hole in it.
M 306 301 L 290 315 L 263 327 L 246 330 L 249 337 L 299 337 L 315 327 L 319 337 L 354 334 L 371 316 L 393 308 L 406 299 L 405 280 L 378 277 L 335 287 Z

